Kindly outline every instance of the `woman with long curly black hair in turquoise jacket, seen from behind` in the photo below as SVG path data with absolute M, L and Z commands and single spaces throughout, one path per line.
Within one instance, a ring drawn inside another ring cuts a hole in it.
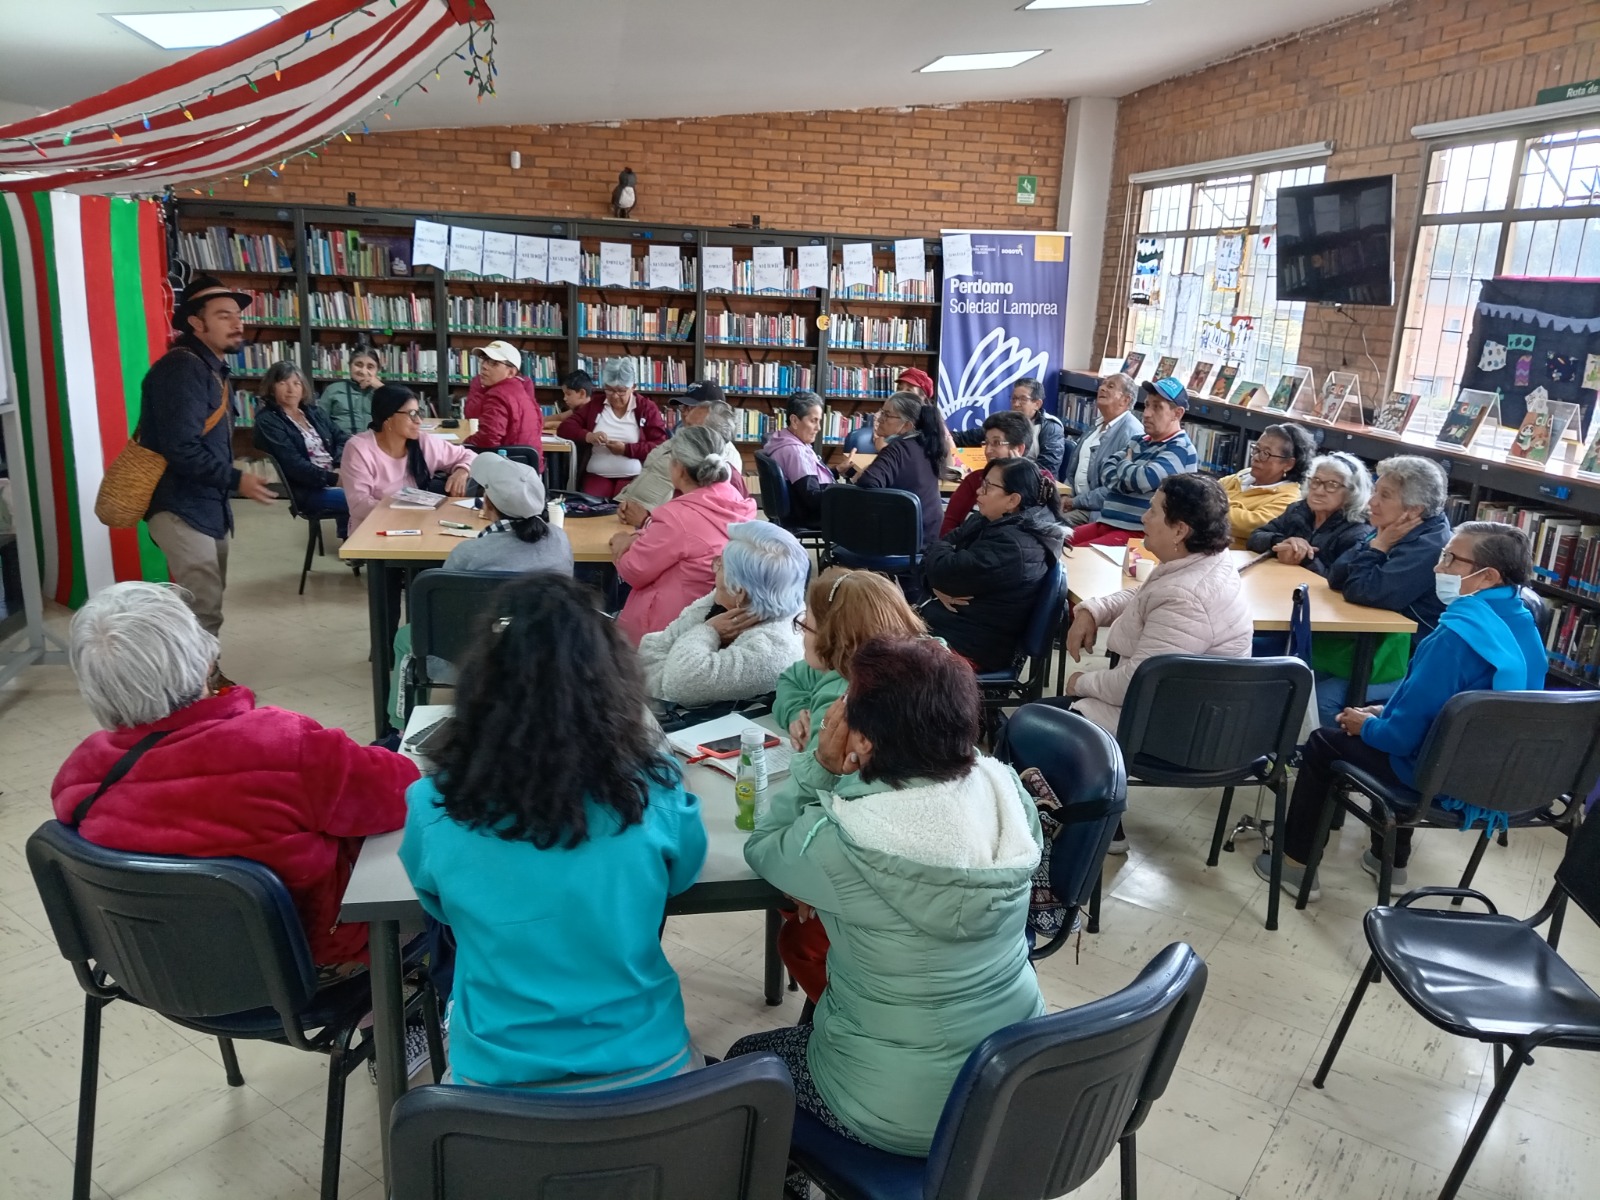
M 658 930 L 706 826 L 594 600 L 547 571 L 496 595 L 438 774 L 406 792 L 400 861 L 456 934 L 456 1083 L 600 1091 L 701 1064 Z

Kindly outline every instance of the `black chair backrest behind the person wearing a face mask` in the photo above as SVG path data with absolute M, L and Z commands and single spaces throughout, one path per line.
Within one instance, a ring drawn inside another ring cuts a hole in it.
M 1600 691 L 1462 691 L 1427 731 L 1416 790 L 1528 813 L 1586 795 L 1597 773 Z

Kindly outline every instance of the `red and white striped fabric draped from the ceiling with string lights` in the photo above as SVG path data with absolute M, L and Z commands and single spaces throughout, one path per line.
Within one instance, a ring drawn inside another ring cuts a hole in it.
M 373 115 L 491 19 L 488 0 L 312 0 L 131 83 L 0 125 L 0 190 L 150 192 L 266 170 Z

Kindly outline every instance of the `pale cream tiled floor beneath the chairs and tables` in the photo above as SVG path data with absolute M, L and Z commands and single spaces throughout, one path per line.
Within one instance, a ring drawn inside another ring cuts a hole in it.
M 370 736 L 362 584 L 318 562 L 304 597 L 294 576 L 302 526 L 282 507 L 238 506 L 224 667 L 261 699 Z M 61 614 L 56 614 L 58 618 Z M 53 618 L 54 619 L 54 618 Z M 58 624 L 62 624 L 58 621 Z M 64 667 L 34 669 L 0 691 L 0 1197 L 69 1194 L 82 994 L 59 958 L 22 861 L 48 813 L 50 779 L 91 730 Z M 1245 797 L 1251 803 L 1251 797 Z M 1211 979 L 1181 1067 L 1139 1138 L 1147 1200 L 1403 1200 L 1432 1197 L 1490 1091 L 1490 1053 L 1438 1034 L 1374 990 L 1325 1091 L 1317 1056 L 1365 958 L 1360 915 L 1373 899 L 1355 866 L 1358 830 L 1331 850 L 1323 899 L 1285 906 L 1266 933 L 1266 885 L 1250 854 L 1203 864 L 1214 797 L 1136 792 L 1133 853 L 1107 864 L 1104 931 L 1082 955 L 1042 970 L 1053 1006 L 1126 984 L 1173 941 L 1190 942 Z M 1450 883 L 1467 856 L 1458 835 L 1418 838 L 1413 883 Z M 1558 838 L 1491 848 L 1480 875 L 1502 910 L 1538 907 Z M 722 1053 L 742 1034 L 790 1022 L 798 1003 L 760 997 L 760 917 L 674 918 L 669 952 L 696 1042 Z M 1600 931 L 1568 920 L 1563 950 L 1600 981 Z M 216 1043 L 128 1006 L 106 1013 L 94 1182 L 130 1200 L 314 1197 L 322 1062 L 240 1045 L 243 1088 L 222 1078 Z M 349 1085 L 342 1194 L 378 1200 L 378 1131 L 366 1074 Z M 1600 1059 L 1544 1053 L 1523 1072 L 1462 1194 L 1544 1200 L 1594 1186 L 1600 1165 Z M 1586 1186 L 1582 1179 L 1590 1182 Z M 1117 1195 L 1115 1163 L 1083 1197 Z

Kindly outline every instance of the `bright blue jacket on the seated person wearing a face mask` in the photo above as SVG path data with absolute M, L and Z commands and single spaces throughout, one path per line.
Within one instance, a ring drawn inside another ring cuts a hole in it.
M 1416 760 L 1445 702 L 1462 691 L 1544 688 L 1544 642 L 1515 587 L 1490 587 L 1445 610 L 1438 629 L 1411 654 L 1400 688 L 1362 741 L 1389 755 L 1395 774 L 1416 786 Z

